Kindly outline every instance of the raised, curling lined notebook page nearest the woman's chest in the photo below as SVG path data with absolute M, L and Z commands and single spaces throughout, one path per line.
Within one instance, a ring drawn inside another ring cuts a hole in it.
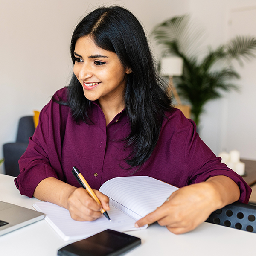
M 148 176 L 131 176 L 108 180 L 99 191 L 113 200 L 111 204 L 140 219 L 162 205 L 177 189 Z

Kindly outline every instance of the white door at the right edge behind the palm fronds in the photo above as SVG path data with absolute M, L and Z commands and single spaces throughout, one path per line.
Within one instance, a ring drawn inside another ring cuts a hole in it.
M 256 36 L 256 3 L 254 8 L 236 8 L 230 13 L 229 36 Z M 242 154 L 256 159 L 256 59 L 236 64 L 241 75 L 240 93 L 230 93 L 227 115 L 227 150 L 240 148 Z M 237 125 L 239 123 L 239 125 Z

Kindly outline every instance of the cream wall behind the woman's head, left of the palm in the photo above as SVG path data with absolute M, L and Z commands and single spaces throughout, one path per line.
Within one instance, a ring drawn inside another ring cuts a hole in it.
M 150 31 L 162 20 L 188 12 L 188 0 L 1 0 L 0 1 L 0 158 L 14 142 L 18 120 L 41 110 L 68 84 L 69 44 L 79 17 L 106 3 L 126 6 Z M 1 166 L 3 172 L 3 166 Z

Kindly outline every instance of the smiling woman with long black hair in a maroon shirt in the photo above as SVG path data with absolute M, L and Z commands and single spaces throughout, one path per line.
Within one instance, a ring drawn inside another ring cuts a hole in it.
M 102 207 L 109 210 L 108 198 L 97 191 L 102 183 L 148 175 L 181 189 L 135 226 L 158 221 L 177 234 L 227 204 L 248 202 L 250 187 L 201 141 L 194 122 L 171 107 L 143 28 L 131 12 L 112 6 L 84 17 L 73 32 L 71 57 L 70 85 L 43 108 L 20 159 L 15 183 L 21 194 L 92 221 Z M 77 188 L 73 166 L 102 206 Z

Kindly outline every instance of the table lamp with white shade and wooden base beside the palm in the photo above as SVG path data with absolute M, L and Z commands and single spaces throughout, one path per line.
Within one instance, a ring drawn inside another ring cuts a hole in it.
M 183 74 L 183 59 L 177 56 L 163 57 L 161 60 L 161 75 L 169 76 L 169 91 L 172 93 L 178 103 L 175 108 L 179 108 L 186 118 L 190 118 L 190 106 L 182 105 L 180 96 L 177 93 L 175 86 L 173 85 L 173 76 L 181 76 Z

